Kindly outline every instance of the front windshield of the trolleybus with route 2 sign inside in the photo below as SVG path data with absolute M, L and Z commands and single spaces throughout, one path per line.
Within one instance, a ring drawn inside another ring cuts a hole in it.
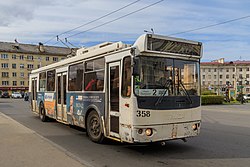
M 160 57 L 139 57 L 134 76 L 137 96 L 199 96 L 199 62 Z

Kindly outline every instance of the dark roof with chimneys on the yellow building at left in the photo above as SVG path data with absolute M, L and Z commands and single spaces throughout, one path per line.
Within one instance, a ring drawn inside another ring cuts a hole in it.
M 41 43 L 31 45 L 17 42 L 0 42 L 0 52 L 66 56 L 71 54 L 72 50 L 65 47 L 47 46 Z

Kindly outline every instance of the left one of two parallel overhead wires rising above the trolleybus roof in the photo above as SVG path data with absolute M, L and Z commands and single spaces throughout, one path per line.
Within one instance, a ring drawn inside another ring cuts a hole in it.
M 85 24 L 82 24 L 82 25 L 80 25 L 80 26 L 77 26 L 77 27 L 75 27 L 75 28 L 72 28 L 72 29 L 70 29 L 70 30 L 68 30 L 68 31 L 62 32 L 62 33 L 58 34 L 57 36 L 60 36 L 60 35 L 63 35 L 63 34 L 72 32 L 72 31 L 77 30 L 77 29 L 79 29 L 79 28 L 81 28 L 81 27 L 84 27 L 84 26 L 86 26 L 86 25 L 89 25 L 89 24 L 91 24 L 91 23 L 94 23 L 94 22 L 96 22 L 96 21 L 98 21 L 98 20 L 101 20 L 101 19 L 103 19 L 103 18 L 105 18 L 105 17 L 107 17 L 107 16 L 110 16 L 110 15 L 112 15 L 112 14 L 114 14 L 114 13 L 120 11 L 120 10 L 123 10 L 123 9 L 125 9 L 125 8 L 127 8 L 127 7 L 129 7 L 129 6 L 133 5 L 133 4 L 135 4 L 135 3 L 137 3 L 137 2 L 139 2 L 139 1 L 141 1 L 141 0 L 136 0 L 136 1 L 132 2 L 132 3 L 129 3 L 129 4 L 127 4 L 127 5 L 125 5 L 125 6 L 121 7 L 121 8 L 119 8 L 119 9 L 114 10 L 114 11 L 108 13 L 108 14 L 105 14 L 105 15 L 103 15 L 103 16 L 97 18 L 97 19 L 94 19 L 94 20 L 89 21 L 89 22 L 87 22 L 87 23 L 85 23 Z M 56 38 L 57 36 L 54 36 L 54 37 L 50 38 L 48 41 L 44 42 L 44 44 L 46 44 L 46 43 L 52 41 L 52 40 L 53 40 L 54 38 Z

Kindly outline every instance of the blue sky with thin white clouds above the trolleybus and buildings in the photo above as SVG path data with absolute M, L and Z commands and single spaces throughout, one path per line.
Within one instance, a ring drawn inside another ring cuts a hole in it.
M 17 39 L 20 43 L 42 42 L 45 45 L 63 46 L 57 41 L 56 36 L 59 35 L 59 39 L 64 42 L 67 38 L 69 46 L 71 43 L 77 47 L 89 47 L 105 41 L 132 44 L 145 33 L 144 30 L 153 28 L 155 34 L 202 42 L 202 61 L 219 58 L 225 58 L 226 61 L 250 60 L 249 0 L 159 1 L 0 1 L 0 41 L 14 42 Z M 159 3 L 145 8 L 156 2 Z M 123 8 L 126 5 L 127 7 Z M 123 9 L 62 34 L 120 8 Z M 186 32 L 245 16 L 249 17 Z

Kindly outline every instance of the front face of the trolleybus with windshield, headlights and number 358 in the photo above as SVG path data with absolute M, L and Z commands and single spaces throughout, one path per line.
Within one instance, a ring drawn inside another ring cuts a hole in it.
M 147 34 L 133 47 L 133 142 L 197 136 L 202 44 Z

